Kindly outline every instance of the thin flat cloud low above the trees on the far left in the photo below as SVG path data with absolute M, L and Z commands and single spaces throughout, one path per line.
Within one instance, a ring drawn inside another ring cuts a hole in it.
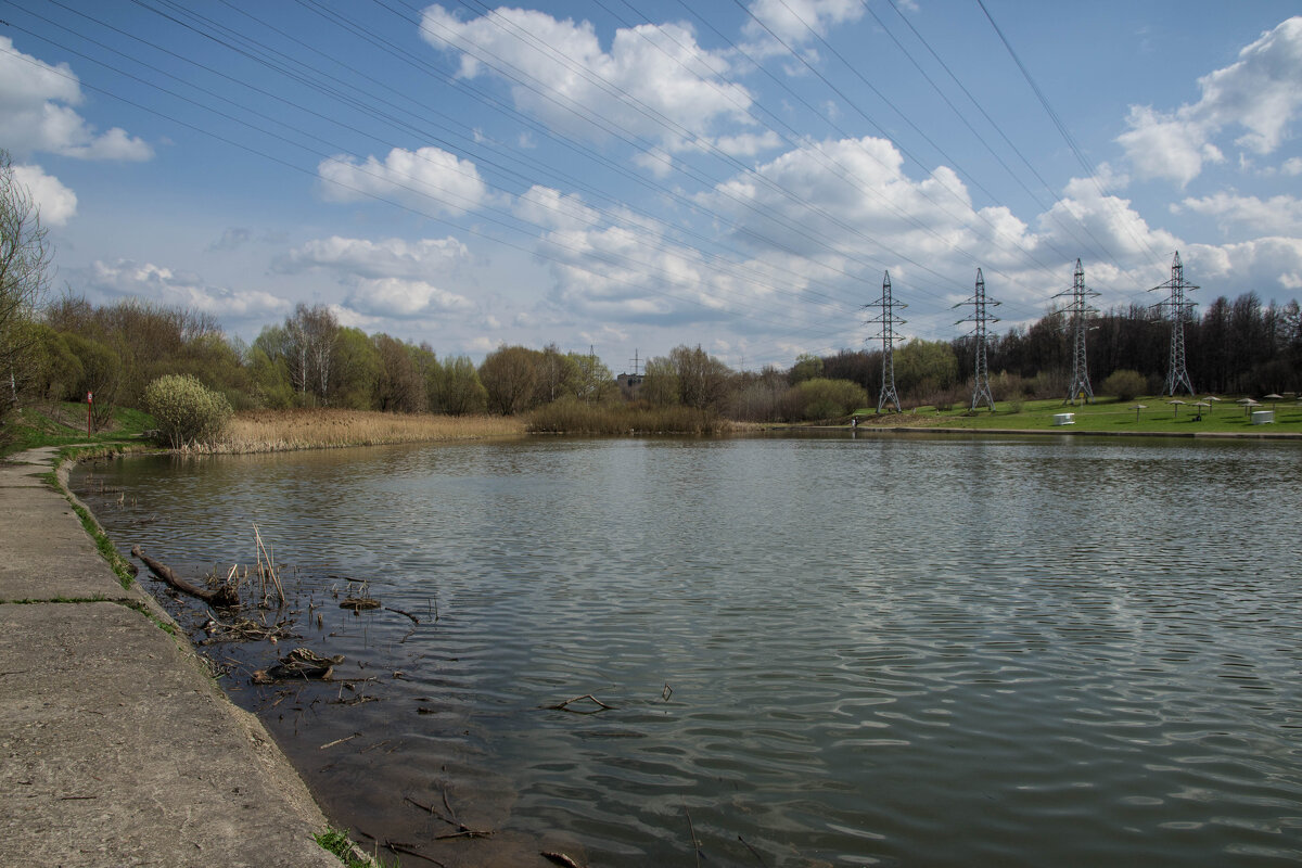
M 198 275 L 130 259 L 96 260 L 79 277 L 104 295 L 147 298 L 221 318 L 277 316 L 290 308 L 271 293 L 212 286 Z

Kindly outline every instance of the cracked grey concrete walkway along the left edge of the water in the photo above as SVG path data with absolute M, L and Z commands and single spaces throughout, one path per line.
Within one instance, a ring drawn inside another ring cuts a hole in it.
M 258 718 L 40 480 L 52 458 L 0 462 L 0 861 L 339 868 Z

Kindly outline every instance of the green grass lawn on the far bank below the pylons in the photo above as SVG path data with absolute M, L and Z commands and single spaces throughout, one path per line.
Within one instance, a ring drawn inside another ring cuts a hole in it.
M 988 409 L 969 414 L 966 406 L 948 411 L 935 407 L 918 407 L 906 410 L 904 414 L 878 415 L 871 409 L 859 410 L 859 424 L 875 427 L 878 424 L 889 427 L 910 428 L 966 428 L 973 431 L 983 429 L 1017 429 L 1017 431 L 1053 431 L 1056 433 L 1098 432 L 1111 435 L 1182 435 L 1193 436 L 1198 433 L 1237 433 L 1237 435 L 1269 435 L 1269 433 L 1302 433 L 1302 405 L 1293 400 L 1280 401 L 1277 406 L 1266 401 L 1255 410 L 1275 410 L 1273 424 L 1254 426 L 1243 407 L 1234 403 L 1238 396 L 1225 396 L 1225 400 L 1216 403 L 1210 410 L 1207 407 L 1194 407 L 1190 405 L 1170 405 L 1170 398 L 1144 397 L 1131 401 L 1117 401 L 1115 398 L 1098 398 L 1091 403 L 1064 405 L 1061 400 L 1049 401 L 1000 401 L 995 403 L 995 413 Z M 1194 401 L 1194 398 L 1181 398 Z M 1199 398 L 1200 400 L 1200 398 Z M 1135 405 L 1146 406 L 1135 410 Z M 1202 410 L 1202 419 L 1198 419 L 1198 410 Z M 1053 416 L 1059 413 L 1072 413 L 1074 424 L 1055 426 Z

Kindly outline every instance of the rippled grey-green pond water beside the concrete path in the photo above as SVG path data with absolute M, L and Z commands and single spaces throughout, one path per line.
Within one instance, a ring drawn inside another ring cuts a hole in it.
M 691 865 L 693 834 L 707 865 L 1302 861 L 1297 445 L 529 440 L 74 483 L 191 576 L 258 523 L 303 639 L 207 651 L 329 813 L 447 864 Z M 340 610 L 348 579 L 421 623 Z M 250 687 L 292 644 L 352 688 Z M 547 708 L 585 694 L 613 708 Z

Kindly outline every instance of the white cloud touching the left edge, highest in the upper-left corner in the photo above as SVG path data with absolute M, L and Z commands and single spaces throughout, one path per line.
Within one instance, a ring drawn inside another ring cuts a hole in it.
M 44 151 L 79 160 L 148 160 L 145 141 L 113 128 L 98 133 L 72 105 L 81 83 L 68 64 L 47 64 L 0 36 L 0 142 L 14 155 Z

